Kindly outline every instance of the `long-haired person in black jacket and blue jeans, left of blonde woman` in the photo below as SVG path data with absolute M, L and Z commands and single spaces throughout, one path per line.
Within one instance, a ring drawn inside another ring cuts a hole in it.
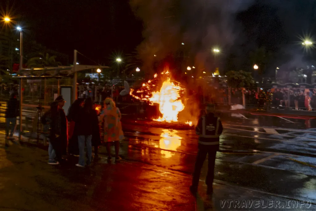
M 85 100 L 83 108 L 75 119 L 76 133 L 78 134 L 78 146 L 79 146 L 79 161 L 76 166 L 85 166 L 85 150 L 87 145 L 87 164 L 91 163 L 92 158 L 92 134 L 94 132 L 95 123 L 98 123 L 98 116 L 92 106 L 92 99 L 89 97 Z

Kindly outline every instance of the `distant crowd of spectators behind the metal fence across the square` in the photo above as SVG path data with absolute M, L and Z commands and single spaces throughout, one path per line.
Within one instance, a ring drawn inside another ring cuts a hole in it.
M 64 82 L 63 82 L 64 83 Z M 62 84 L 62 82 L 60 82 Z M 68 83 L 71 84 L 71 83 Z M 23 101 L 24 103 L 36 102 L 40 99 L 42 105 L 49 105 L 54 100 L 58 93 L 58 84 L 46 85 L 45 82 L 40 83 L 24 83 L 23 88 Z M 123 86 L 77 86 L 78 97 L 92 97 L 95 102 L 100 102 L 106 97 L 113 97 L 117 102 L 132 103 L 135 100 L 130 96 L 119 96 L 119 93 L 124 89 Z M 1 95 L 9 96 L 10 90 L 18 93 L 18 87 L 1 85 Z M 295 110 L 310 110 L 316 109 L 316 89 L 312 88 L 271 88 L 263 89 L 262 92 L 271 91 L 272 107 L 289 108 Z M 256 94 L 260 92 L 260 88 L 232 88 L 232 87 L 214 87 L 210 86 L 204 88 L 199 93 L 197 98 L 201 102 L 215 103 L 217 105 L 243 105 L 243 94 L 245 96 L 246 107 L 257 106 L 258 99 Z

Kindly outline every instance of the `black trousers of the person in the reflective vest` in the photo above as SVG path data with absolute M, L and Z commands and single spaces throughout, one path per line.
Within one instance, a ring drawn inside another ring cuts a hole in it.
M 197 187 L 200 180 L 201 169 L 205 161 L 206 155 L 208 154 L 208 170 L 206 176 L 206 185 L 212 186 L 214 180 L 214 167 L 215 167 L 215 158 L 216 152 L 219 149 L 219 144 L 216 145 L 202 145 L 198 144 L 197 159 L 195 162 L 192 186 Z

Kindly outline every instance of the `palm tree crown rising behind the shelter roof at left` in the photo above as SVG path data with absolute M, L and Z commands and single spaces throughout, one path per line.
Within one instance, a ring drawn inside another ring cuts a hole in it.
M 48 53 L 39 53 L 39 57 L 33 57 L 27 61 L 27 67 L 57 67 L 61 62 L 56 61 L 56 56 L 50 56 Z

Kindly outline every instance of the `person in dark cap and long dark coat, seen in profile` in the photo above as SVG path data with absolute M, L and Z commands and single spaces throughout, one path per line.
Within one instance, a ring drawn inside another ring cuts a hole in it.
M 61 153 L 62 155 L 67 155 L 67 145 L 68 145 L 68 121 L 64 112 L 65 100 L 62 95 L 59 95 L 55 101 L 58 104 L 58 127 L 60 128 L 60 142 L 61 142 Z

